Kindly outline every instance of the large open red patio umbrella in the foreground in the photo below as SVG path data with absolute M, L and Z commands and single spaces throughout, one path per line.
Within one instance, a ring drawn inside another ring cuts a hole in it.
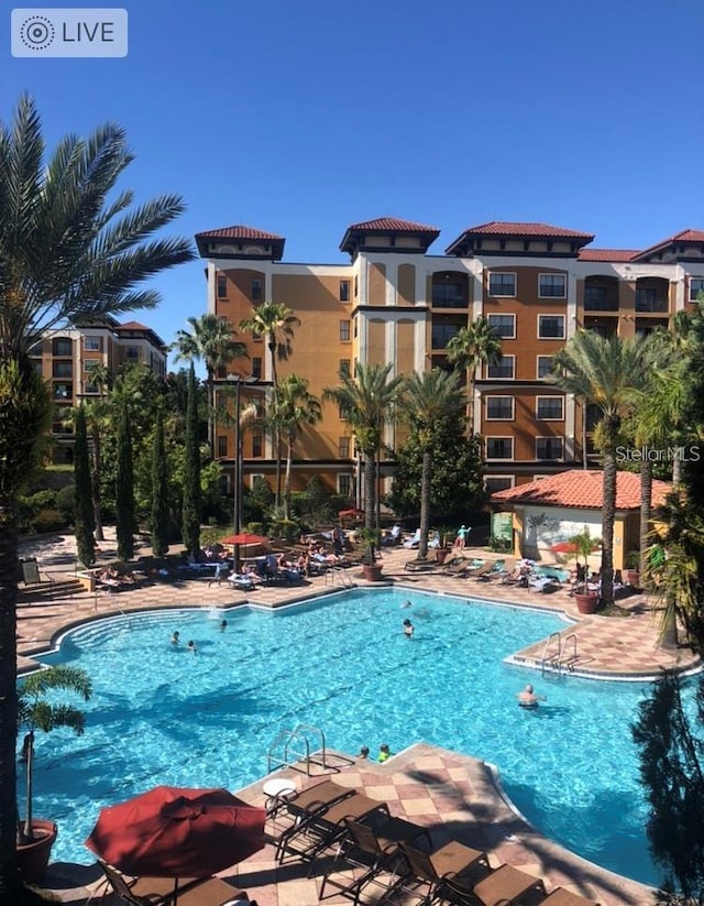
M 264 847 L 266 811 L 227 789 L 157 786 L 103 808 L 88 849 L 122 872 L 174 878 L 210 877 Z

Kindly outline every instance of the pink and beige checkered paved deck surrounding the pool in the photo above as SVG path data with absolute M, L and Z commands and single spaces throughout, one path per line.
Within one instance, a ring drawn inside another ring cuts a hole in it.
M 486 556 L 485 552 L 468 548 L 468 556 Z M 497 555 L 488 555 L 497 558 Z M 454 578 L 439 571 L 409 572 L 405 564 L 415 557 L 413 550 L 386 549 L 383 555 L 384 576 L 397 588 L 433 591 L 460 597 L 480 598 L 518 607 L 539 607 L 563 612 L 569 622 L 561 635 L 575 636 L 565 644 L 570 655 L 563 668 L 574 668 L 586 675 L 614 679 L 649 676 L 664 667 L 692 669 L 696 661 L 688 650 L 668 652 L 658 647 L 658 612 L 645 594 L 619 603 L 629 612 L 624 619 L 582 616 L 566 591 L 543 594 L 497 582 Z M 51 567 L 54 568 L 54 567 Z M 364 587 L 361 570 L 352 567 L 344 572 L 349 582 Z M 305 586 L 262 587 L 254 592 L 233 590 L 227 583 L 208 587 L 202 579 L 177 579 L 158 585 L 129 587 L 118 593 L 77 594 L 50 603 L 22 605 L 18 624 L 18 669 L 36 664 L 32 655 L 51 647 L 62 630 L 86 620 L 140 609 L 173 607 L 229 608 L 252 603 L 278 607 L 311 594 L 341 588 L 340 577 L 316 577 Z M 574 621 L 574 622 L 572 622 Z M 557 641 L 553 640 L 557 647 Z M 572 656 L 573 652 L 576 656 Z M 515 653 L 517 663 L 541 669 L 546 641 Z M 527 679 L 532 678 L 527 672 Z M 322 728 L 323 730 L 326 728 Z M 606 872 L 579 859 L 530 828 L 516 815 L 502 795 L 493 772 L 483 762 L 419 742 L 384 765 L 355 761 L 344 753 L 328 755 L 327 766 L 314 766 L 316 773 L 332 773 L 334 779 L 378 798 L 391 806 L 393 814 L 407 817 L 432 829 L 433 842 L 450 837 L 469 845 L 487 849 L 492 865 L 503 862 L 520 867 L 544 880 L 548 889 L 562 885 L 597 900 L 602 906 L 640 906 L 652 903 L 649 888 Z M 297 786 L 310 782 L 300 771 L 286 768 Z M 248 801 L 263 804 L 263 778 L 239 795 Z M 202 778 L 204 786 L 208 778 Z M 308 877 L 307 865 L 287 863 L 277 866 L 271 844 L 252 859 L 237 866 L 233 883 L 249 891 L 258 906 L 314 906 L 318 902 L 320 877 Z M 85 903 L 95 893 L 95 866 L 55 864 L 47 887 L 63 902 Z M 328 897 L 326 896 L 326 902 Z M 103 900 L 108 903 L 108 900 Z M 331 904 L 342 903 L 331 897 Z

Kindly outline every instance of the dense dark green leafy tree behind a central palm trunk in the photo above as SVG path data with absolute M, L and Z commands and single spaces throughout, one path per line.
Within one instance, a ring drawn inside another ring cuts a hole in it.
M 486 500 L 481 438 L 476 434 L 468 438 L 464 424 L 463 417 L 449 416 L 439 419 L 433 432 L 430 447 L 431 523 L 462 522 L 468 513 L 480 510 Z M 411 430 L 397 451 L 396 476 L 387 502 L 399 515 L 420 513 L 424 449 L 417 433 Z

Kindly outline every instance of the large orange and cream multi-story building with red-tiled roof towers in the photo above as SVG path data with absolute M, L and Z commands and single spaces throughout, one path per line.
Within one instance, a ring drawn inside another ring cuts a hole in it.
M 466 229 L 444 254 L 430 254 L 438 236 L 433 227 L 389 217 L 355 223 L 340 244 L 350 263 L 341 264 L 283 262 L 283 237 L 243 226 L 196 240 L 208 261 L 209 312 L 235 329 L 263 301 L 298 316 L 293 354 L 278 370 L 307 378 L 312 393 L 360 362 L 393 362 L 404 374 L 442 367 L 450 338 L 486 316 L 503 338 L 503 358 L 477 370 L 471 405 L 491 491 L 592 457 L 595 414 L 546 381 L 552 356 L 579 327 L 605 336 L 647 334 L 668 327 L 704 290 L 704 230 L 623 250 L 592 248 L 594 236 L 579 230 L 491 222 Z M 230 370 L 271 386 L 265 342 L 240 339 L 251 359 Z M 403 426 L 389 426 L 385 439 L 393 449 L 403 436 Z M 233 443 L 218 437 L 226 466 L 233 462 Z M 245 478 L 271 477 L 270 441 L 250 436 L 243 451 Z M 332 405 L 320 425 L 302 432 L 294 474 L 296 487 L 320 474 L 342 493 L 359 488 L 352 433 Z

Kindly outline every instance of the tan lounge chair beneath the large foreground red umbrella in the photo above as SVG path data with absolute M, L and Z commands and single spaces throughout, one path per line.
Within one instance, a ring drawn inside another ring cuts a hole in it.
M 170 903 L 174 897 L 173 877 L 139 877 L 128 880 L 121 872 L 105 862 L 98 861 L 109 887 L 119 899 L 130 906 L 160 906 Z M 179 878 L 179 906 L 223 906 L 235 899 L 249 902 L 244 891 L 231 887 L 219 877 Z

